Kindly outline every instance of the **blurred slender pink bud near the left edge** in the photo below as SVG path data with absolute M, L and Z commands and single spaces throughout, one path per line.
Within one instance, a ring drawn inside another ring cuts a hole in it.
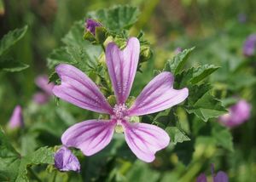
M 9 128 L 20 128 L 24 127 L 22 109 L 20 105 L 15 106 L 15 110 L 9 120 Z

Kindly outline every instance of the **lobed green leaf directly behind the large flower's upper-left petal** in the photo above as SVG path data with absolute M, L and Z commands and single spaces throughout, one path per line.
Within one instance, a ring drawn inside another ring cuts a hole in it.
M 83 39 L 84 23 L 82 20 L 74 23 L 67 35 L 62 38 L 65 46 L 55 49 L 47 59 L 50 69 L 61 63 L 78 67 L 82 71 L 96 70 L 97 60 L 102 54 L 100 46 Z

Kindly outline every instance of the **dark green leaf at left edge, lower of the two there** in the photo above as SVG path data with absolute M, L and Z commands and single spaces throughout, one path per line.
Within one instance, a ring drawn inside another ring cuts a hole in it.
M 0 60 L 0 71 L 22 71 L 28 68 L 29 65 L 21 63 L 20 61 L 14 60 L 12 58 Z

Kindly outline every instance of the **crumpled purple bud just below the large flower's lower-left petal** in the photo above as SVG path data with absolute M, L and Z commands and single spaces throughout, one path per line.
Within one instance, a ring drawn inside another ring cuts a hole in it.
M 60 171 L 80 171 L 80 163 L 76 156 L 73 155 L 66 146 L 62 146 L 55 153 L 55 168 Z

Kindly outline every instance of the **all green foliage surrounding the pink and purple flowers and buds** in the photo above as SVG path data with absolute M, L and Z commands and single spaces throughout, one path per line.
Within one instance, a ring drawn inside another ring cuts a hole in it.
M 242 45 L 256 30 L 255 8 L 253 0 L 0 0 L 0 181 L 188 182 L 200 173 L 210 179 L 211 163 L 230 181 L 253 181 L 256 65 L 255 56 L 242 54 Z M 152 163 L 137 160 L 117 134 L 94 156 L 73 150 L 81 173 L 61 173 L 52 165 L 61 134 L 98 116 L 55 98 L 35 104 L 35 77 L 46 73 L 58 82 L 54 67 L 66 62 L 111 95 L 102 46 L 83 39 L 89 17 L 101 20 L 120 47 L 127 37 L 139 37 L 140 69 L 131 95 L 163 70 L 175 75 L 175 88 L 189 88 L 182 105 L 141 118 L 165 128 L 172 139 Z M 177 47 L 183 52 L 177 54 Z M 217 120 L 236 103 L 234 96 L 250 102 L 253 111 L 246 123 L 228 129 Z M 26 127 L 12 131 L 7 123 L 18 104 Z

